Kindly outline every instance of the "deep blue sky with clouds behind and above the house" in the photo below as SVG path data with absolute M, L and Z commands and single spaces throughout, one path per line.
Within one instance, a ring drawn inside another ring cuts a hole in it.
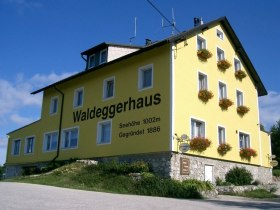
M 226 16 L 269 94 L 261 97 L 267 129 L 280 119 L 280 1 L 151 0 L 180 31 L 193 18 Z M 0 0 L 0 165 L 6 133 L 40 118 L 42 95 L 30 92 L 73 73 L 85 63 L 80 52 L 101 42 L 143 45 L 171 35 L 146 0 Z M 167 25 L 167 22 L 164 23 Z

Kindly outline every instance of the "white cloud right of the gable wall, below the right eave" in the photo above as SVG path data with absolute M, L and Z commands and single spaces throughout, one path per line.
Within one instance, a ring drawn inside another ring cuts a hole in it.
M 270 129 L 280 120 L 280 93 L 268 91 L 267 96 L 259 98 L 260 120 L 266 129 Z

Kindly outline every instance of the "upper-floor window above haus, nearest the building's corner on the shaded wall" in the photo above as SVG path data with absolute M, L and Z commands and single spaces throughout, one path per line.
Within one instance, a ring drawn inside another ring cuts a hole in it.
M 153 65 L 147 65 L 138 70 L 138 88 L 147 89 L 153 87 Z

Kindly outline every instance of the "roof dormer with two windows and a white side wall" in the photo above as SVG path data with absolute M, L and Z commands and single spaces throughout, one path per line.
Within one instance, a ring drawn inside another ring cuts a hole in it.
M 110 62 L 127 54 L 133 53 L 142 47 L 113 44 L 103 42 L 81 53 L 86 60 L 86 70 Z

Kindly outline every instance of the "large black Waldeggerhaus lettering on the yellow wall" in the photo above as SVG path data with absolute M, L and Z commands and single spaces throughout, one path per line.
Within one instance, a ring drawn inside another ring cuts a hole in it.
M 112 104 L 110 106 L 104 106 L 102 108 L 94 106 L 93 108 L 87 108 L 86 111 L 77 110 L 73 112 L 74 123 L 86 120 L 92 120 L 94 118 L 114 118 L 116 113 L 142 109 L 149 106 L 159 105 L 161 103 L 160 93 L 154 95 L 140 97 L 133 99 L 129 97 L 127 101 L 120 102 L 118 104 Z

